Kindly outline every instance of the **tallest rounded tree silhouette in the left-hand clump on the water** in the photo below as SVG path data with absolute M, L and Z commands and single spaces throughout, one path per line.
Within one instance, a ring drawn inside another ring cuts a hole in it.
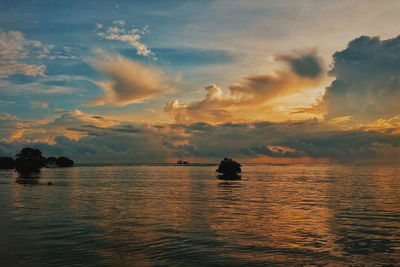
M 15 160 L 15 171 L 21 178 L 32 178 L 32 175 L 40 173 L 45 166 L 46 159 L 39 149 L 25 147 L 17 154 Z

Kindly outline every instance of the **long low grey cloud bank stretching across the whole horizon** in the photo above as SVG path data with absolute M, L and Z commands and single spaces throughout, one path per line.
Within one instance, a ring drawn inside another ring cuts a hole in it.
M 149 125 L 109 120 L 78 110 L 65 111 L 42 123 L 24 122 L 10 115 L 1 118 L 2 126 L 15 131 L 0 140 L 0 152 L 13 150 L 15 154 L 29 145 L 46 155 L 66 155 L 77 162 L 164 162 L 178 157 L 217 162 L 226 156 L 242 162 L 400 160 L 398 120 L 386 122 L 394 123 L 392 127 L 397 130 L 365 126 L 344 130 L 316 119 Z M 52 140 L 46 139 L 49 136 Z

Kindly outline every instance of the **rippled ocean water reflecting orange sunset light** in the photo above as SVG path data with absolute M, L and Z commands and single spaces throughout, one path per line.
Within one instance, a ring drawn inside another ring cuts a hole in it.
M 400 265 L 400 165 L 215 168 L 0 171 L 0 265 Z

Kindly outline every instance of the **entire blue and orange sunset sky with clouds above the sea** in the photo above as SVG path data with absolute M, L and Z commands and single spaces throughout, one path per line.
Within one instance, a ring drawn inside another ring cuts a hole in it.
M 398 0 L 0 2 L 0 156 L 400 162 Z

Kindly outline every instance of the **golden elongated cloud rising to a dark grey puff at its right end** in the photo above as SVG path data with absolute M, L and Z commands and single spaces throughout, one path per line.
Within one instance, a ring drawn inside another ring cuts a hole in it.
M 178 123 L 218 123 L 262 117 L 265 120 L 266 112 L 271 112 L 271 103 L 275 99 L 315 87 L 323 74 L 321 60 L 315 51 L 280 55 L 277 60 L 286 63 L 290 69 L 247 76 L 229 86 L 225 94 L 216 85 L 207 86 L 204 99 L 188 104 L 174 100 L 166 104 L 165 111 Z M 251 117 L 244 118 L 244 114 L 250 113 Z

